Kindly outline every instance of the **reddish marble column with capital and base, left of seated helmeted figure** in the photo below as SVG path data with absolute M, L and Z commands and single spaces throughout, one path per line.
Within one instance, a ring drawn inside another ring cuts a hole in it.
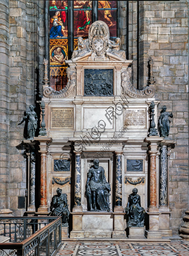
M 41 168 L 40 168 L 40 206 L 38 208 L 38 215 L 49 214 L 49 205 L 47 205 L 47 155 L 49 144 L 52 142 L 52 138 L 47 136 L 34 137 L 34 140 L 40 142 L 40 156 L 41 156 Z

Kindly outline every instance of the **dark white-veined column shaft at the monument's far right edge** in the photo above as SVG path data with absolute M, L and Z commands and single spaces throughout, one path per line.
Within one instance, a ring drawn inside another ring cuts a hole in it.
M 168 207 L 167 176 L 167 146 L 164 145 L 160 148 L 159 205 Z

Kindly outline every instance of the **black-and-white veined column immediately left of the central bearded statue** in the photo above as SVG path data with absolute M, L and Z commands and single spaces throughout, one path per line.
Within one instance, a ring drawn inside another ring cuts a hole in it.
M 73 212 L 82 212 L 81 205 L 81 153 L 75 152 L 75 182 Z

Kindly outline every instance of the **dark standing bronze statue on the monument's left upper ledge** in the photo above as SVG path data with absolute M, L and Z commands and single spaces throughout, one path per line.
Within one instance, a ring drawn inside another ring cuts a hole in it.
M 27 139 L 33 139 L 35 137 L 35 132 L 37 129 L 37 114 L 33 110 L 33 105 L 30 105 L 29 108 L 26 109 L 26 116 L 23 117 L 24 119 L 28 118 L 28 125 L 27 125 Z

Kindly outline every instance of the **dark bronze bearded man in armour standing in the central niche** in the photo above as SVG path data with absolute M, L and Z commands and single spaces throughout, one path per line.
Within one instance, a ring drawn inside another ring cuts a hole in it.
M 94 159 L 94 167 L 87 172 L 86 196 L 89 211 L 110 212 L 110 184 L 106 181 L 105 171 L 99 166 L 99 160 Z

